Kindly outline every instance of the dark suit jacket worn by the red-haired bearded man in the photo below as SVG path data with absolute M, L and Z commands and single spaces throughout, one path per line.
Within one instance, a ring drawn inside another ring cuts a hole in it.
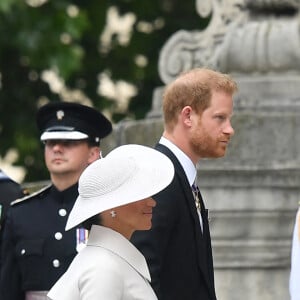
M 167 147 L 158 151 L 174 164 L 172 183 L 155 195 L 152 229 L 135 232 L 132 242 L 147 259 L 159 300 L 215 300 L 213 259 L 207 211 L 203 201 L 203 234 L 185 172 Z

